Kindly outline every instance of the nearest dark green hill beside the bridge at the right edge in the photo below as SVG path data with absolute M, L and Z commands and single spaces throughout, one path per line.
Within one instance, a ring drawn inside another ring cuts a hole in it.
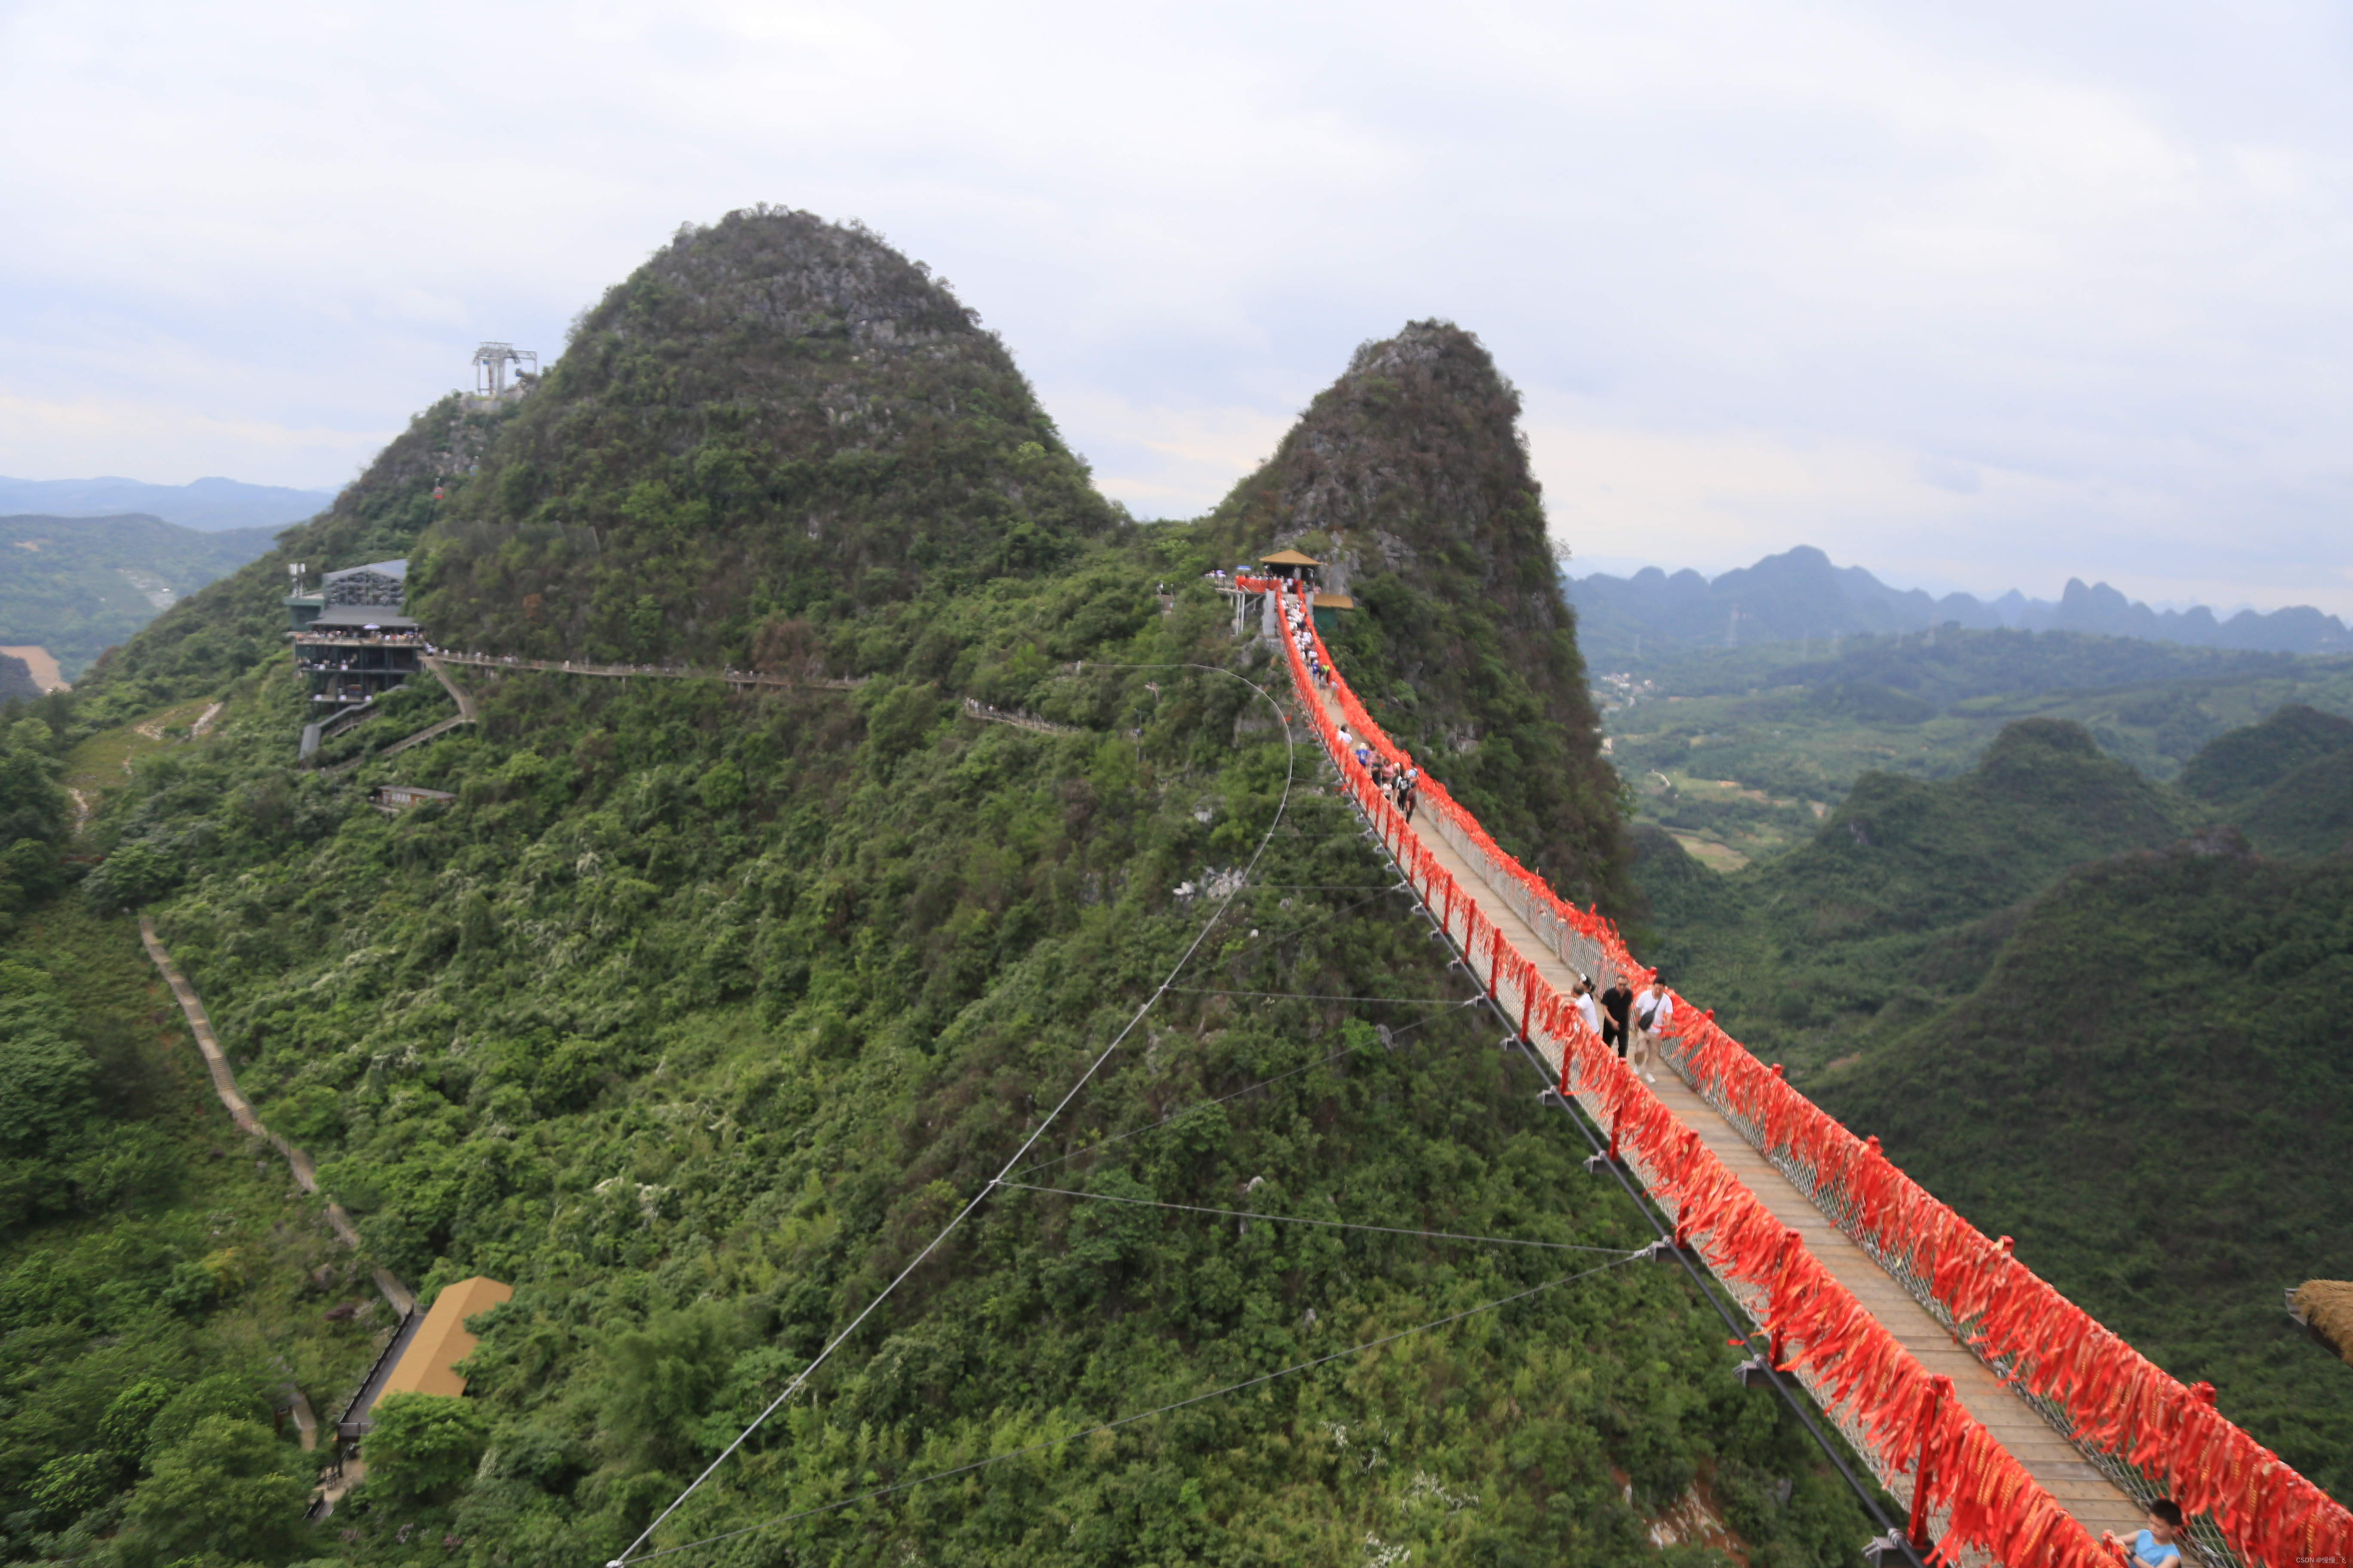
M 2141 853 L 1821 1100 L 2339 1497 L 2353 1375 L 2280 1309 L 2353 1258 L 2353 863 Z

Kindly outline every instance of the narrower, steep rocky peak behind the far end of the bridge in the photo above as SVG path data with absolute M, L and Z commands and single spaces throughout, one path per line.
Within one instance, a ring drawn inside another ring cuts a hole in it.
M 1619 780 L 1518 416 L 1473 334 L 1412 322 L 1355 350 L 1212 527 L 1231 559 L 1327 562 L 1358 602 L 1329 637 L 1381 724 L 1565 896 L 1626 910 Z

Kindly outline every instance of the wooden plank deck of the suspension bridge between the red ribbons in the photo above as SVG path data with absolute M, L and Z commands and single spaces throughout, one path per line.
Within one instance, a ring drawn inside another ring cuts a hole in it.
M 1318 693 L 1334 722 L 1346 722 L 1332 693 Z M 1468 889 L 1487 889 L 1487 879 L 1435 830 L 1424 830 L 1426 818 L 1414 823 L 1414 837 L 1431 851 L 1454 879 Z M 1532 959 L 1544 978 L 1569 994 L 1577 973 L 1555 954 L 1544 938 L 1511 907 L 1506 898 L 1480 898 L 1480 917 L 1492 919 L 1504 938 Z M 1600 976 L 1595 976 L 1595 983 Z M 1553 1060 L 1558 1067 L 1558 1058 Z M 1715 1152 L 1720 1161 L 1748 1185 L 1774 1218 L 1805 1237 L 1805 1246 L 1821 1265 L 1847 1286 L 1854 1298 L 1875 1316 L 1920 1366 L 1953 1380 L 1953 1392 L 1986 1432 L 1991 1432 L 2038 1483 L 2082 1523 L 2094 1537 L 2101 1530 L 2129 1535 L 2141 1528 L 2141 1509 L 2108 1476 L 2104 1476 L 2075 1443 L 2059 1436 L 2033 1406 L 2012 1394 L 1986 1366 L 1960 1347 L 1953 1335 L 1929 1316 L 1927 1307 L 1913 1300 L 1887 1269 L 1873 1262 L 1871 1253 L 1847 1239 L 1781 1171 L 1741 1138 L 1739 1128 L 1725 1121 L 1706 1100 L 1692 1091 L 1675 1072 L 1659 1063 L 1659 1081 L 1652 1086 L 1661 1103 Z

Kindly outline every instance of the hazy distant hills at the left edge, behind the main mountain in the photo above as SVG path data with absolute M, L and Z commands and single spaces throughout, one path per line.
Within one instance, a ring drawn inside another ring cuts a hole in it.
M 155 517 L 0 517 L 0 644 L 40 644 L 75 679 L 101 649 L 271 545 L 275 529 L 198 534 Z M 7 693 L 0 693 L 7 696 Z

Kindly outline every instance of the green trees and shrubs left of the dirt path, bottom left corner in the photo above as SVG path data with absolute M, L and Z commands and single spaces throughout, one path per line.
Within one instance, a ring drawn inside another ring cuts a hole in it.
M 19 926 L 0 1079 L 0 1549 L 78 1556 L 125 1519 L 162 1526 L 125 1561 L 301 1544 L 282 1500 L 299 1521 L 308 1483 L 271 1396 L 339 1396 L 384 1316 L 325 1316 L 365 1274 L 240 1145 L 129 922 L 66 893 Z

